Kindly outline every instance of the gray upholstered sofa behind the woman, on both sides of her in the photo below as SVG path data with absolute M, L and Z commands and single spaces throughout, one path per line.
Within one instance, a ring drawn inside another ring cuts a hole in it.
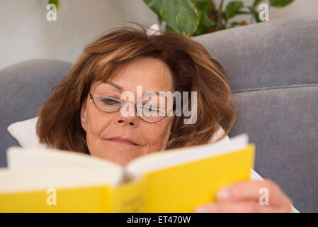
M 229 137 L 248 133 L 255 170 L 301 212 L 318 212 L 318 18 L 264 22 L 193 38 L 227 70 L 238 104 Z M 0 70 L 0 166 L 18 145 L 10 123 L 33 118 L 71 67 L 28 60 Z

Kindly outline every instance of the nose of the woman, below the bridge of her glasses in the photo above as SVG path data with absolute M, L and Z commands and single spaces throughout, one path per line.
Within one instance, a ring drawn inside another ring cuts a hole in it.
M 129 101 L 123 104 L 115 117 L 115 123 L 118 126 L 137 126 L 138 119 L 135 111 L 135 104 Z

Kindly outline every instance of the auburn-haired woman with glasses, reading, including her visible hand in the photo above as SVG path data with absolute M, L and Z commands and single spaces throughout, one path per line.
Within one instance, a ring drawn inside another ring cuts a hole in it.
M 39 111 L 41 143 L 127 165 L 147 153 L 209 143 L 220 126 L 225 134 L 218 140 L 225 138 L 236 106 L 220 62 L 195 40 L 166 31 L 147 35 L 140 27 L 116 28 L 86 45 Z M 152 92 L 145 101 L 137 94 L 140 86 Z M 180 100 L 174 99 L 172 109 L 160 106 L 166 101 L 160 92 L 197 92 L 194 101 L 182 96 L 195 110 L 195 123 L 185 124 L 187 117 L 176 114 Z M 162 114 L 149 116 L 149 110 Z M 268 206 L 259 204 L 261 188 L 268 189 Z M 289 212 L 290 205 L 266 179 L 229 185 L 217 201 L 196 211 Z

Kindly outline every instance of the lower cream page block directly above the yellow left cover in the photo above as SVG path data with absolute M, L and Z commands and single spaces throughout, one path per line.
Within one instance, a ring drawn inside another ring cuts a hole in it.
M 8 170 L 0 168 L 0 193 L 47 190 L 52 187 L 73 188 L 116 185 L 117 179 L 108 177 L 101 169 L 59 167 Z

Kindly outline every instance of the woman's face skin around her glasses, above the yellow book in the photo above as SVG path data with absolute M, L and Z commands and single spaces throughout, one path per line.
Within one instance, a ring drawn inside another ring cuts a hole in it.
M 130 62 L 107 83 L 93 82 L 90 91 L 92 95 L 112 96 L 117 99 L 120 99 L 122 92 L 132 92 L 137 104 L 137 86 L 140 85 L 143 93 L 174 92 L 169 68 L 164 62 L 150 57 Z M 147 100 L 143 104 L 147 103 Z M 130 104 L 127 106 L 124 107 L 132 108 Z M 81 126 L 86 131 L 89 152 L 119 165 L 127 165 L 141 155 L 164 150 L 173 119 L 174 117 L 167 116 L 156 123 L 149 123 L 136 114 L 123 116 L 120 110 L 106 113 L 97 109 L 89 97 L 81 106 Z M 136 144 L 127 142 L 127 138 Z

